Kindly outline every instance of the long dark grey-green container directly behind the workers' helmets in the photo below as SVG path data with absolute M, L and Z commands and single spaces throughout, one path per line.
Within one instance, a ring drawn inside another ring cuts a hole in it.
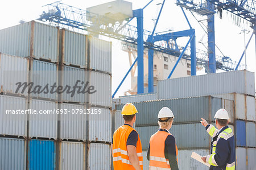
M 175 115 L 174 122 L 199 122 L 200 118 L 214 120 L 214 114 L 222 107 L 221 98 L 210 96 L 167 99 L 159 101 L 147 101 L 134 103 L 139 114 L 137 114 L 136 125 L 157 125 L 158 112 L 162 107 L 169 107 Z M 117 105 L 118 110 L 122 110 L 123 105 Z M 211 113 L 209 113 L 211 112 Z M 193 117 L 191 117 L 193 115 Z M 212 118 L 210 118 L 212 117 Z

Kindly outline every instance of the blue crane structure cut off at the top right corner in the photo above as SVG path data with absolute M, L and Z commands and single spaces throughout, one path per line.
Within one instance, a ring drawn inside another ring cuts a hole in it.
M 215 37 L 214 37 L 214 14 L 216 10 L 221 14 L 222 10 L 229 11 L 230 13 L 241 17 L 242 19 L 250 22 L 251 28 L 253 28 L 253 34 L 246 45 L 248 47 L 251 38 L 255 35 L 256 45 L 256 1 L 255 0 L 176 0 L 176 4 L 180 7 L 195 12 L 197 14 L 207 16 L 208 22 L 208 57 L 209 57 L 209 72 L 215 73 L 218 63 L 216 63 L 215 55 Z M 245 48 L 245 50 L 246 50 Z M 242 57 L 245 51 L 243 51 L 240 61 L 237 64 L 235 70 L 238 69 Z

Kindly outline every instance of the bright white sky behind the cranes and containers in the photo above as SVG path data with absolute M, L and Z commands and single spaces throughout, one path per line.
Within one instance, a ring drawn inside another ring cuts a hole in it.
M 39 18 L 39 15 L 42 14 L 43 5 L 47 3 L 52 3 L 55 1 L 46 1 L 46 0 L 23 0 L 23 1 L 1 1 L 0 2 L 0 29 L 14 26 L 19 24 L 19 20 L 35 20 Z M 72 0 L 72 1 L 62 1 L 71 6 L 79 7 L 80 9 L 86 9 L 86 7 L 100 5 L 101 3 L 110 2 L 108 0 L 97 0 L 97 1 L 79 1 L 79 0 Z M 147 0 L 140 0 L 130 1 L 133 3 L 133 10 L 142 8 L 146 5 L 149 1 Z M 154 23 L 152 19 L 155 19 L 158 15 L 158 10 L 160 9 L 160 5 L 156 5 L 157 3 L 162 2 L 159 0 L 155 0 L 151 3 L 144 10 L 144 29 L 152 31 L 154 27 Z M 174 30 L 174 31 L 181 31 L 181 30 L 188 30 L 189 26 L 184 18 L 184 15 L 180 9 L 180 7 L 176 6 L 176 1 L 166 1 L 162 15 L 160 16 L 160 20 L 158 23 L 158 27 L 156 28 L 156 32 L 165 31 L 165 30 Z M 203 45 L 199 43 L 201 40 L 204 43 L 207 43 L 207 35 L 204 34 L 203 29 L 199 26 L 199 23 L 193 17 L 193 15 L 185 10 L 185 13 L 188 16 L 189 22 L 191 23 L 192 28 L 196 29 L 196 48 L 200 48 L 205 50 Z M 215 15 L 215 37 L 216 37 L 216 44 L 221 49 L 222 53 L 225 56 L 229 56 L 232 60 L 238 61 L 242 55 L 244 49 L 244 41 L 243 41 L 243 34 L 240 34 L 242 27 L 237 27 L 233 24 L 232 16 L 230 13 L 226 13 L 226 11 L 222 14 L 222 19 Z M 204 20 L 205 17 L 196 15 L 198 20 Z M 135 19 L 134 19 L 135 21 Z M 206 24 L 206 20 L 204 21 Z M 135 24 L 135 22 L 131 23 Z M 246 43 L 252 34 L 250 27 L 246 25 L 247 30 L 249 30 L 249 34 L 246 34 Z M 204 37 L 204 38 L 203 38 Z M 120 42 L 117 40 L 104 38 L 113 42 L 113 84 L 112 84 L 112 93 L 117 88 L 119 82 L 122 80 L 123 76 L 129 69 L 129 59 L 128 54 L 121 50 Z M 181 39 L 180 46 L 185 46 L 186 41 L 188 39 Z M 216 49 L 216 54 L 221 55 L 220 51 Z M 255 37 L 251 40 L 249 47 L 246 51 L 247 56 L 247 70 L 251 72 L 255 72 Z M 245 60 L 242 60 L 242 63 L 245 63 Z M 199 74 L 204 74 L 204 72 L 199 72 Z M 117 96 L 123 96 L 123 92 L 130 89 L 130 75 L 126 78 L 126 81 L 123 83 Z M 115 96 L 115 97 L 117 97 Z

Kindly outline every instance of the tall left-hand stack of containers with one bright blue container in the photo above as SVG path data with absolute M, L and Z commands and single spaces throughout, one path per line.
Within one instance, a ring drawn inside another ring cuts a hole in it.
M 32 21 L 0 30 L 0 52 L 0 169 L 110 169 L 112 43 Z M 50 92 L 76 83 L 96 92 Z

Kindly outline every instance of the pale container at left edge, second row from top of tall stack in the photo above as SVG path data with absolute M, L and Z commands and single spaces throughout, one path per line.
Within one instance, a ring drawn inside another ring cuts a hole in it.
M 17 82 L 28 82 L 28 59 L 0 52 L 0 77 L 0 93 L 15 93 Z M 27 90 L 22 93 L 20 88 L 17 93 L 27 95 Z

